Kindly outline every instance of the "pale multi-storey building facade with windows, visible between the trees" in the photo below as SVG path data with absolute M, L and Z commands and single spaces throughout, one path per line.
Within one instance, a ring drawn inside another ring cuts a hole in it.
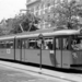
M 55 8 L 61 1 L 69 1 L 69 0 L 26 0 L 26 8 L 34 15 L 46 20 L 49 17 L 48 13 L 51 12 L 52 8 Z M 43 20 L 38 24 L 38 27 L 48 28 L 52 27 L 52 25 Z

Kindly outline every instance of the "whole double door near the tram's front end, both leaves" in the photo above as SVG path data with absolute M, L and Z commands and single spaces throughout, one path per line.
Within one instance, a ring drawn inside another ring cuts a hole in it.
M 58 68 L 70 68 L 72 63 L 72 56 L 70 50 L 70 37 L 59 36 L 56 37 L 56 67 Z

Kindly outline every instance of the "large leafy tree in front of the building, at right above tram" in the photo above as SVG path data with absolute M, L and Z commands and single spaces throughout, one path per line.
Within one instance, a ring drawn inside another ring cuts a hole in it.
M 68 28 L 78 28 L 80 19 L 82 17 L 82 4 L 77 0 L 63 0 L 54 7 L 48 13 L 49 17 L 46 20 L 58 27 L 66 26 Z

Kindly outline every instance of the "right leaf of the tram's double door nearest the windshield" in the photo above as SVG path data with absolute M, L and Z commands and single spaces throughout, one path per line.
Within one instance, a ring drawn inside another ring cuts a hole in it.
M 62 36 L 61 37 L 61 59 L 62 59 L 62 68 L 70 68 L 72 63 L 72 56 L 71 56 L 71 38 L 70 36 Z

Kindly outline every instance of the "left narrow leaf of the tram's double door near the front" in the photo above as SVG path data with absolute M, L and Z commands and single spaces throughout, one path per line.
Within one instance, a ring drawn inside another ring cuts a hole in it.
M 56 58 L 56 67 L 61 68 L 62 59 L 61 59 L 61 37 L 55 37 L 55 58 Z

